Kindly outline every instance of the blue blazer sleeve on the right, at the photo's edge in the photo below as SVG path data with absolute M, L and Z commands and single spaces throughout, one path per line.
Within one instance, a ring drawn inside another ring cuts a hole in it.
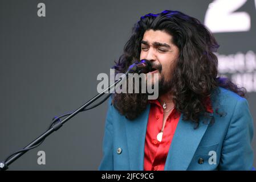
M 238 100 L 221 150 L 220 170 L 253 169 L 253 119 L 245 98 Z

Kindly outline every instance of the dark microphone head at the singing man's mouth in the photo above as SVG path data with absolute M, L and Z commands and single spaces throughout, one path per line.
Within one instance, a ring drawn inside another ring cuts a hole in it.
M 148 73 L 152 70 L 151 61 L 143 59 L 140 63 L 132 64 L 128 68 L 129 73 Z

